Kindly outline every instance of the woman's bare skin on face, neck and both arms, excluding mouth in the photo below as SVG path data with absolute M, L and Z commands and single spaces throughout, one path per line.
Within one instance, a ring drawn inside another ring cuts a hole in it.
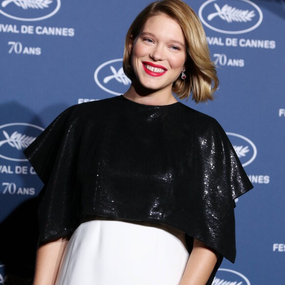
M 136 78 L 124 96 L 145 105 L 169 105 L 177 102 L 172 83 L 185 70 L 186 49 L 180 26 L 166 15 L 147 20 L 136 39 L 130 38 L 129 52 Z M 142 62 L 151 62 L 167 69 L 162 76 L 148 74 Z M 37 251 L 33 285 L 54 285 L 68 240 L 58 239 L 41 245 Z M 179 285 L 205 285 L 217 262 L 216 253 L 197 239 Z

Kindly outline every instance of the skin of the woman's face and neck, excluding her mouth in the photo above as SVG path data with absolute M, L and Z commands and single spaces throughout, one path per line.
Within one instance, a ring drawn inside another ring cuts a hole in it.
M 177 102 L 172 83 L 185 70 L 186 49 L 180 26 L 165 15 L 149 18 L 136 39 L 130 39 L 129 52 L 136 78 L 124 96 L 145 105 L 168 105 Z M 155 77 L 147 74 L 142 62 L 159 64 L 167 72 Z

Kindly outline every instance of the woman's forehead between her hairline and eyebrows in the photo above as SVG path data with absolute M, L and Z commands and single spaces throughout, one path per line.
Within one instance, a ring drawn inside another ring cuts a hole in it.
M 141 33 L 143 32 L 150 32 L 156 36 L 173 38 L 184 42 L 182 28 L 174 19 L 165 14 L 149 17 L 141 30 Z

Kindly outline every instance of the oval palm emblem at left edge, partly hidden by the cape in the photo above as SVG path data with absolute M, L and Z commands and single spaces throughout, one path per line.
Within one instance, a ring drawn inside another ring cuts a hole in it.
M 11 161 L 28 161 L 23 150 L 44 129 L 27 123 L 10 123 L 0 126 L 0 157 Z

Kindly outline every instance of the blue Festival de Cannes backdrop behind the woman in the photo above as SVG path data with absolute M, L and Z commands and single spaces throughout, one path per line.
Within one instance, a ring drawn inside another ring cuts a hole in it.
M 213 284 L 285 284 L 285 2 L 186 2 L 220 88 L 184 104 L 221 123 L 255 186 L 236 203 L 236 263 L 224 260 Z M 42 183 L 23 149 L 67 107 L 127 90 L 124 38 L 148 3 L 0 0 L 0 284 L 33 272 Z

